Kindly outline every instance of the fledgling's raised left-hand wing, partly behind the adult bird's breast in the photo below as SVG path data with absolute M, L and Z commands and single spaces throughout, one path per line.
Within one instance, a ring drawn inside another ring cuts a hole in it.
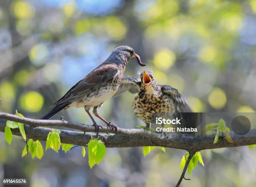
M 137 77 L 123 76 L 120 86 L 113 97 L 117 97 L 126 91 L 131 93 L 138 93 L 140 89 L 141 80 Z

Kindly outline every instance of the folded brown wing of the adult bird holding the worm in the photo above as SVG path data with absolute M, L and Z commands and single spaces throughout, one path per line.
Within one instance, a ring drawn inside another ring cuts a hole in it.
M 84 94 L 92 92 L 98 87 L 105 85 L 119 74 L 120 70 L 113 64 L 102 64 L 90 72 L 86 77 L 77 82 L 60 100 L 52 106 L 61 105 L 67 102 L 73 102 Z

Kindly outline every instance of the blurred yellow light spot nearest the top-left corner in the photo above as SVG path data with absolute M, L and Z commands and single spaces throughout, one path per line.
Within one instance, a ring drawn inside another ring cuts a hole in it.
M 33 6 L 27 1 L 15 1 L 12 4 L 12 8 L 15 16 L 20 19 L 33 17 L 35 14 Z

